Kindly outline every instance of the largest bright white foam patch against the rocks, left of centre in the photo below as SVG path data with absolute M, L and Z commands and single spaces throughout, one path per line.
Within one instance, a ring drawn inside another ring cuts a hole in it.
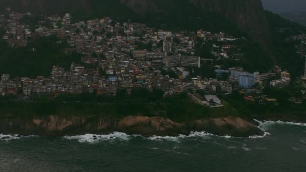
M 64 139 L 67 140 L 78 140 L 80 143 L 95 143 L 99 141 L 107 141 L 107 140 L 130 140 L 134 137 L 142 137 L 140 135 L 127 135 L 125 133 L 113 132 L 107 135 L 95 135 L 95 134 L 85 134 L 78 136 L 65 136 Z

